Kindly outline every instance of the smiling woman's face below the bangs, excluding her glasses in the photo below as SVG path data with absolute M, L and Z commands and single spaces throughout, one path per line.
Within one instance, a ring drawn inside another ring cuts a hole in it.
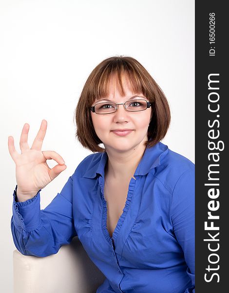
M 124 79 L 123 87 L 125 97 L 121 96 L 118 87 L 115 84 L 115 78 L 111 77 L 109 84 L 109 96 L 107 100 L 115 103 L 125 103 L 130 100 L 136 93 L 133 93 L 127 78 Z M 140 99 L 149 102 L 144 95 L 137 93 Z M 137 98 L 135 98 L 137 99 Z M 139 99 L 139 98 L 138 98 Z M 97 99 L 96 103 L 108 102 L 106 100 Z M 91 111 L 92 122 L 95 132 L 103 145 L 108 150 L 115 149 L 116 151 L 128 151 L 138 145 L 143 145 L 148 141 L 148 126 L 151 120 L 151 107 L 144 111 L 130 112 L 124 108 L 124 105 L 118 105 L 115 113 L 111 114 L 96 114 Z M 131 129 L 125 134 L 124 132 L 115 132 L 115 129 Z M 119 135 L 118 135 L 119 134 Z M 120 134 L 124 134 L 121 135 Z

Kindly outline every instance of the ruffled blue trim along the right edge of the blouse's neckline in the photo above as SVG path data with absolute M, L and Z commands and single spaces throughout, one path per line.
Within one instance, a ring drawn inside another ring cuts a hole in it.
M 127 199 L 126 199 L 125 206 L 123 208 L 123 213 L 121 214 L 120 218 L 118 219 L 117 226 L 115 227 L 115 230 L 113 232 L 113 239 L 114 240 L 116 240 L 118 232 L 121 229 L 122 224 L 123 224 L 123 222 L 125 220 L 126 214 L 127 214 L 128 210 L 130 208 L 130 205 L 131 205 L 131 202 L 132 202 L 132 197 L 133 197 L 133 194 L 134 194 L 135 184 L 136 184 L 136 180 L 132 177 L 131 181 L 130 181 L 130 184 L 129 184 L 129 189 L 128 189 L 128 193 L 127 193 Z

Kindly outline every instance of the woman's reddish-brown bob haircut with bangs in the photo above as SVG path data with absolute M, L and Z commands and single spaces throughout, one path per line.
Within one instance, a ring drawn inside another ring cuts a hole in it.
M 171 120 L 170 107 L 165 94 L 153 77 L 137 60 L 128 56 L 107 58 L 90 73 L 74 111 L 76 138 L 82 146 L 92 152 L 105 151 L 105 148 L 99 146 L 102 141 L 95 133 L 90 107 L 95 100 L 109 95 L 108 85 L 112 75 L 117 80 L 122 96 L 125 96 L 122 83 L 125 75 L 129 79 L 131 90 L 135 94 L 143 94 L 150 101 L 152 119 L 148 127 L 148 142 L 145 146 L 154 146 L 167 133 Z

